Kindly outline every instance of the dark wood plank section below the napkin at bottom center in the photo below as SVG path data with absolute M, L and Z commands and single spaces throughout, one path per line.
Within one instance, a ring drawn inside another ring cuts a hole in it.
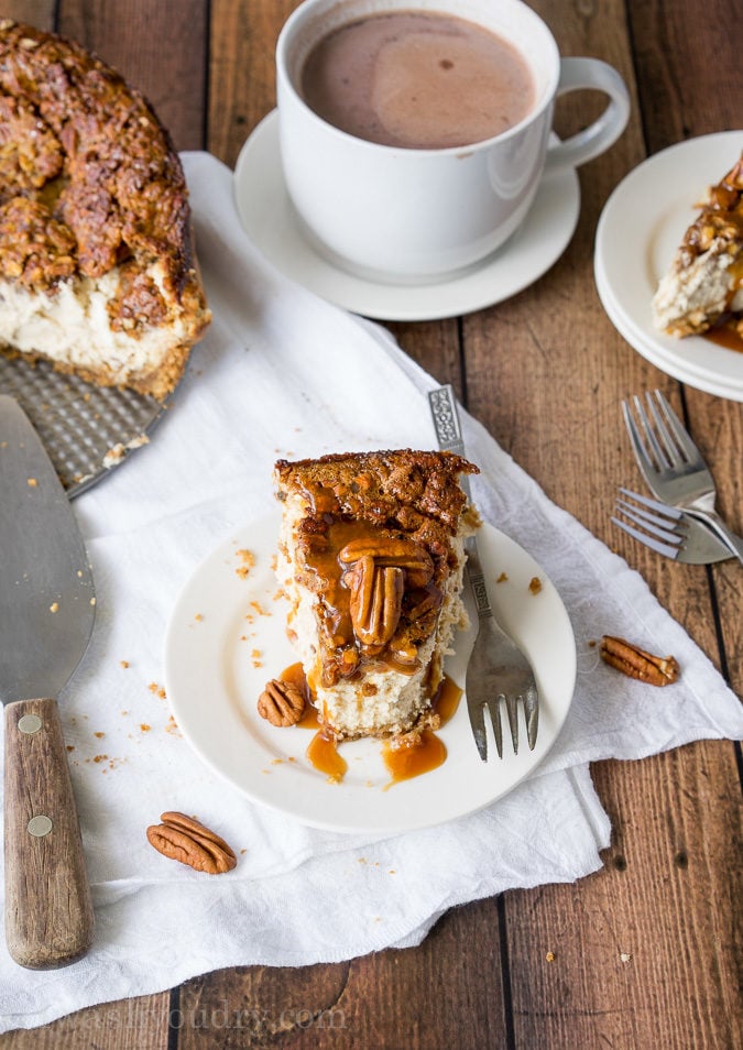
M 188 982 L 181 1009 L 198 1025 L 184 1025 L 179 1050 L 203 1044 L 204 1024 L 211 1024 L 210 1046 L 225 1050 L 278 1042 L 291 1050 L 481 1050 L 503 1046 L 503 1008 L 498 903 L 491 899 L 445 916 L 417 949 Z

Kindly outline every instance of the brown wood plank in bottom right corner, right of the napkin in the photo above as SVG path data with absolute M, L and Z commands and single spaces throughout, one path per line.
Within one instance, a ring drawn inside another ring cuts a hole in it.
M 736 1046 L 732 745 L 601 763 L 594 779 L 614 823 L 604 871 L 507 895 L 517 1046 Z M 521 928 L 525 909 L 536 941 Z

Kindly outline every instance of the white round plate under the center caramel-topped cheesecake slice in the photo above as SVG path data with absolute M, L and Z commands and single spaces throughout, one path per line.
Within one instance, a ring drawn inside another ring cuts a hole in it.
M 173 717 L 200 758 L 255 802 L 304 823 L 341 832 L 402 832 L 442 823 L 505 795 L 542 762 L 567 717 L 576 681 L 576 645 L 559 594 L 517 544 L 484 525 L 481 555 L 495 613 L 532 660 L 539 689 L 539 733 L 528 750 L 523 714 L 514 755 L 503 712 L 504 757 L 498 758 L 489 726 L 483 763 L 469 725 L 466 698 L 437 731 L 447 758 L 437 769 L 385 785 L 390 776 L 381 742 L 340 745 L 348 773 L 328 783 L 305 756 L 313 732 L 276 729 L 256 711 L 265 682 L 297 657 L 285 633 L 286 599 L 273 565 L 278 518 L 271 515 L 221 543 L 195 571 L 178 598 L 167 632 L 165 689 Z M 248 575 L 244 555 L 254 565 Z M 505 572 L 507 580 L 494 583 Z M 529 591 L 538 577 L 542 590 Z M 472 632 L 460 632 L 447 672 L 460 686 Z

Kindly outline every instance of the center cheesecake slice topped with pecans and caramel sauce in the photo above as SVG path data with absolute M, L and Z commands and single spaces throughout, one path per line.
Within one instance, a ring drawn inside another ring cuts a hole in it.
M 280 460 L 277 576 L 320 721 L 338 740 L 424 724 L 467 614 L 465 538 L 478 526 L 451 452 Z

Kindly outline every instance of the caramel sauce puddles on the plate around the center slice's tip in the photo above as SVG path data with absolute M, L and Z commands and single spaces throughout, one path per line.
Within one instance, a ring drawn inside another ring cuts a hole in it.
M 302 664 L 292 664 L 282 672 L 281 678 L 295 685 L 307 700 L 305 713 L 297 722 L 299 729 L 315 730 L 306 751 L 307 758 L 319 773 L 325 773 L 329 779 L 340 783 L 348 770 L 348 763 L 338 753 L 338 741 L 317 718 L 317 708 L 312 703 Z M 459 686 L 445 675 L 433 703 L 439 725 L 445 725 L 454 717 L 461 694 Z M 386 791 L 401 780 L 409 780 L 436 769 L 446 761 L 446 745 L 430 729 L 383 741 L 382 758 L 392 777 L 383 790 Z

